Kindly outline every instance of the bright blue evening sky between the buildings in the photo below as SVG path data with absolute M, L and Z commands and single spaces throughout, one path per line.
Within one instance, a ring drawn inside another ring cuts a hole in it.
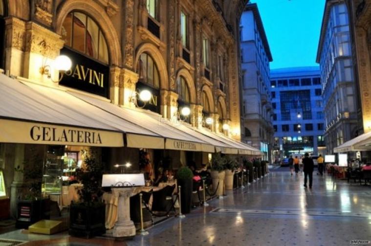
M 273 56 L 270 68 L 316 63 L 325 0 L 250 0 L 259 12 Z

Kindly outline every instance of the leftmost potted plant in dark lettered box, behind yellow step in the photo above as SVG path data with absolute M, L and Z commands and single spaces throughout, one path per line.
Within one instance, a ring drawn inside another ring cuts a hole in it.
M 28 228 L 42 219 L 48 219 L 50 200 L 41 194 L 43 180 L 43 158 L 35 148 L 30 148 L 29 158 L 18 166 L 16 172 L 23 175 L 23 189 L 17 203 L 17 228 Z

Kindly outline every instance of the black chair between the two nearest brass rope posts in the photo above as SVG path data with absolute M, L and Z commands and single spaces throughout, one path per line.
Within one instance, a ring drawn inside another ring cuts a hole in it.
M 153 202 L 152 202 L 152 211 L 157 212 L 168 212 L 174 208 L 173 203 L 173 191 L 175 189 L 175 185 L 173 186 L 166 186 L 160 190 L 153 191 Z

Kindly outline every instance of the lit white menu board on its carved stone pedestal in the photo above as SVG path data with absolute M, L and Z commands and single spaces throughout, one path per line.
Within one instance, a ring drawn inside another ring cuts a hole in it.
M 135 236 L 134 222 L 130 218 L 130 197 L 135 195 L 135 187 L 145 186 L 143 173 L 104 174 L 102 187 L 110 187 L 118 197 L 118 217 L 112 230 L 113 237 Z

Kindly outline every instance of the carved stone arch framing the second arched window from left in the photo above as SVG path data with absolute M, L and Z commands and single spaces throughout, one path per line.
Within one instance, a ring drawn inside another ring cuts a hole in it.
M 138 62 L 139 62 L 139 57 L 144 52 L 150 55 L 156 63 L 158 74 L 160 76 L 160 89 L 168 90 L 169 80 L 168 80 L 166 63 L 164 61 L 164 58 L 162 57 L 160 50 L 156 46 L 154 46 L 152 43 L 142 43 L 136 48 L 134 68 L 136 69 Z

